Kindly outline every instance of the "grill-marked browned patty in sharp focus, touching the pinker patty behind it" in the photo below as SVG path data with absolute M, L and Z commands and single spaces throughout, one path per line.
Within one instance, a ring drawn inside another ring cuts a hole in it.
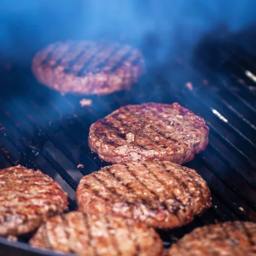
M 211 207 L 207 183 L 168 161 L 119 163 L 81 178 L 76 201 L 83 212 L 134 218 L 167 229 L 188 224 Z

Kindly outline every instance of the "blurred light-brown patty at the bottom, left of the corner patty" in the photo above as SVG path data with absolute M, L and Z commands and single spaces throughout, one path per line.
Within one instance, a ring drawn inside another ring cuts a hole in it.
M 29 244 L 86 256 L 160 256 L 163 251 L 159 235 L 144 224 L 77 211 L 51 218 Z

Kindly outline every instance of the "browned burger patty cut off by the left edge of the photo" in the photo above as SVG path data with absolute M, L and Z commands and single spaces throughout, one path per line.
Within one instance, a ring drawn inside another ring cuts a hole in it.
M 0 170 L 0 236 L 30 233 L 67 204 L 67 194 L 48 175 L 20 165 Z

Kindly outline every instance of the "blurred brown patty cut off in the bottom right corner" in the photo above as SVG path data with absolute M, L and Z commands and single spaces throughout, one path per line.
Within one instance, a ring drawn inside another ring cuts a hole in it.
M 226 222 L 199 227 L 173 244 L 169 256 L 255 256 L 256 224 Z

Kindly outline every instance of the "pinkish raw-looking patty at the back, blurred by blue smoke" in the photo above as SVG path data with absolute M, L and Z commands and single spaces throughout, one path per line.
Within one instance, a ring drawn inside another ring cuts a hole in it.
M 104 95 L 130 90 L 145 72 L 143 57 L 129 45 L 67 41 L 48 45 L 32 61 L 42 84 L 61 93 Z

